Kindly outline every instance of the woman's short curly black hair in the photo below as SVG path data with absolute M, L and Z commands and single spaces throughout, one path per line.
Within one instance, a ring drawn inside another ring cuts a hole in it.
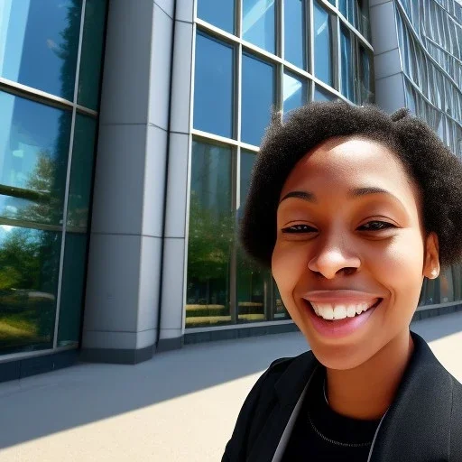
M 388 115 L 377 106 L 343 101 L 310 103 L 287 120 L 273 115 L 252 173 L 241 221 L 246 252 L 271 266 L 276 242 L 276 211 L 282 186 L 295 164 L 334 136 L 360 136 L 385 145 L 401 159 L 420 188 L 423 226 L 439 237 L 441 265 L 462 259 L 462 163 L 429 125 L 402 108 Z

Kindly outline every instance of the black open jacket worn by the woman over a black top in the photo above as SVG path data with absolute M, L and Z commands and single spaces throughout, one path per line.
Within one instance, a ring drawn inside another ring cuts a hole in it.
M 411 335 L 414 352 L 369 461 L 462 462 L 462 385 L 423 338 Z M 310 351 L 275 361 L 247 396 L 222 462 L 271 462 L 300 394 L 318 366 Z

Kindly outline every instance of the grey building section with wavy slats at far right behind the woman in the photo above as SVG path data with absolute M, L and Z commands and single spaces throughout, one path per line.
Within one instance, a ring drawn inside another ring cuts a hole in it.
M 371 28 L 377 104 L 388 112 L 407 106 L 462 157 L 462 5 L 376 0 Z M 426 279 L 419 310 L 460 304 L 461 270 L 453 266 Z

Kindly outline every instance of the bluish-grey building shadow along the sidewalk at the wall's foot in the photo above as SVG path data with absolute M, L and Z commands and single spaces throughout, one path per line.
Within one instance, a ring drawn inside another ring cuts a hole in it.
M 462 331 L 462 312 L 418 321 L 428 341 Z M 0 448 L 135 411 L 263 371 L 307 349 L 300 333 L 162 353 L 140 365 L 82 364 L 0 385 Z M 146 429 L 149 431 L 149 429 Z

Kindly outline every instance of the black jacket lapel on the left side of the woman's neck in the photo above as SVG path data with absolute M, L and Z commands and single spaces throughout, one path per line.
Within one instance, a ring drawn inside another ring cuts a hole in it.
M 291 413 L 317 365 L 319 365 L 318 361 L 308 351 L 298 356 L 274 384 L 277 402 L 256 439 L 247 461 L 271 462 L 273 460 L 274 452 L 291 418 Z

